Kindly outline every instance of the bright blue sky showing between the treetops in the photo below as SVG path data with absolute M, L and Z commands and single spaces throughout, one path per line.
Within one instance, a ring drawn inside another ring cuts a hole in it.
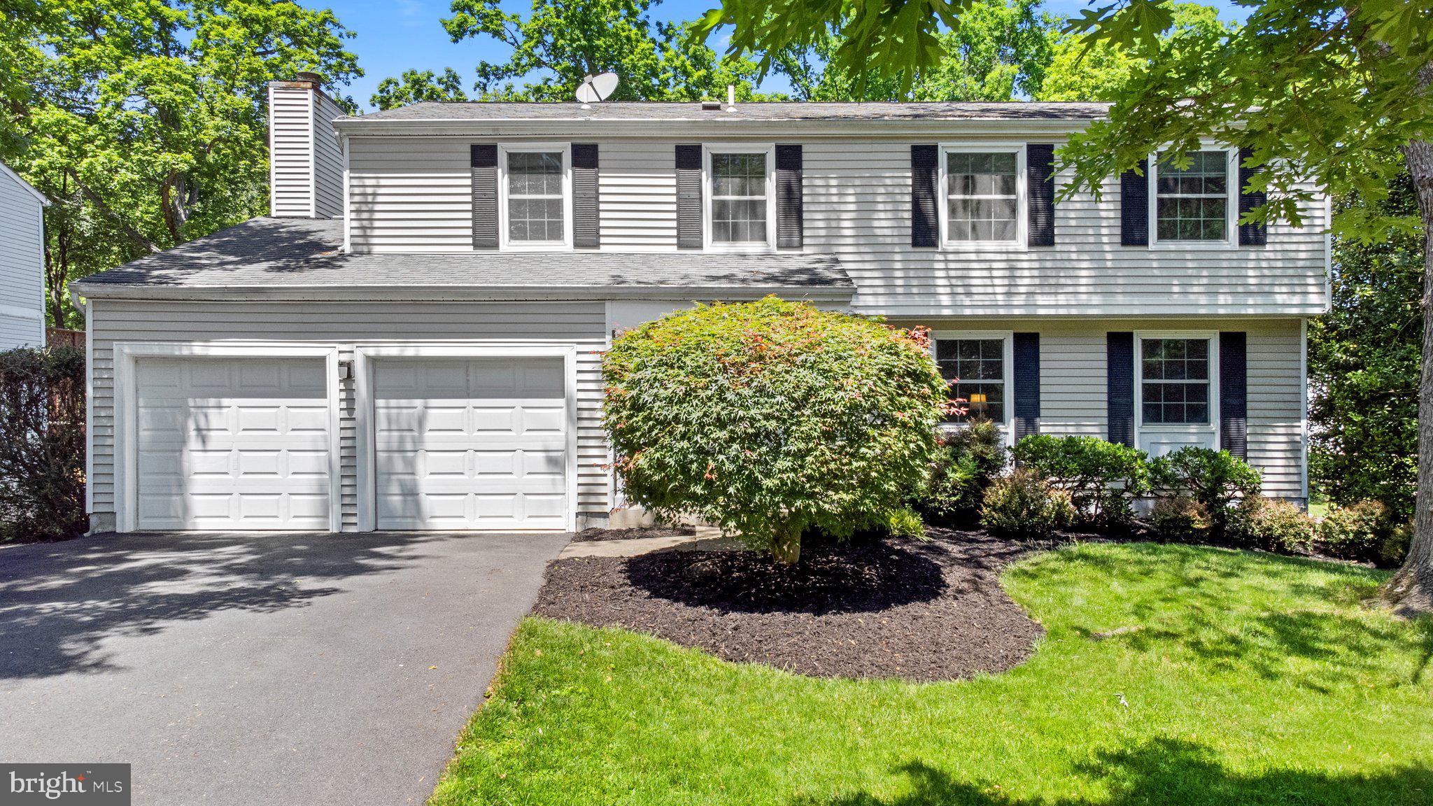
M 438 19 L 450 16 L 450 0 L 302 1 L 305 6 L 331 7 L 340 22 L 357 34 L 348 42 L 348 47 L 358 54 L 358 65 L 365 75 L 353 83 L 347 95 L 364 109 L 370 108 L 368 98 L 385 76 L 397 76 L 410 67 L 434 72 L 453 67 L 466 82 L 471 82 L 473 65 L 484 59 L 502 60 L 507 53 L 506 46 L 493 40 L 450 42 L 438 24 Z M 652 10 L 652 16 L 661 20 L 692 20 L 716 4 L 719 0 L 666 0 Z M 1247 16 L 1230 1 L 1211 4 L 1219 7 L 1228 19 L 1241 20 Z M 504 7 L 513 13 L 524 13 L 532 9 L 532 3 L 507 0 Z M 1046 0 L 1046 9 L 1062 16 L 1075 14 L 1085 7 L 1086 3 L 1080 0 Z M 787 87 L 782 80 L 774 79 L 764 89 L 781 92 Z

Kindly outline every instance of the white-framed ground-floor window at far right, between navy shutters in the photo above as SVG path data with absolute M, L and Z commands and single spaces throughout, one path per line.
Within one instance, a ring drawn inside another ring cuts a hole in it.
M 1144 338 L 1139 356 L 1145 425 L 1209 422 L 1209 340 Z

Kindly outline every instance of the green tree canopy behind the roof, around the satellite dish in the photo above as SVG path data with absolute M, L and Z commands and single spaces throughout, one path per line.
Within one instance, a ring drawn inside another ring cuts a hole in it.
M 497 0 L 453 0 L 443 20 L 453 42 L 490 37 L 512 49 L 506 62 L 477 65 L 474 89 L 486 100 L 572 100 L 585 76 L 612 72 L 622 83 L 610 100 L 754 98 L 757 66 L 721 59 L 695 24 L 656 23 L 653 0 L 533 0 L 523 17 Z

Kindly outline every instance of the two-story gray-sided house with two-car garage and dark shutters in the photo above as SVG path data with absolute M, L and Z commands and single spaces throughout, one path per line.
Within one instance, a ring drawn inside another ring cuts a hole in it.
M 1009 439 L 1227 447 L 1307 495 L 1327 205 L 1238 227 L 1228 149 L 1055 202 L 1103 105 L 271 103 L 279 217 L 76 284 L 97 529 L 602 523 L 612 333 L 765 294 L 931 328 Z

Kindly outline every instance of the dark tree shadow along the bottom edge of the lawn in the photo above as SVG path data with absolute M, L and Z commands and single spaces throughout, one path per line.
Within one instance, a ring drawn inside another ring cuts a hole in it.
M 830 799 L 800 797 L 791 806 L 1181 806 L 1348 805 L 1433 802 L 1433 770 L 1400 766 L 1377 773 L 1333 774 L 1284 769 L 1244 774 L 1218 763 L 1204 746 L 1179 739 L 1154 739 L 1134 749 L 1099 753 L 1079 773 L 1105 780 L 1109 797 L 1022 799 L 999 789 L 999 782 L 956 780 L 926 762 L 909 762 L 894 772 L 910 779 L 909 792 L 883 797 L 870 792 Z

